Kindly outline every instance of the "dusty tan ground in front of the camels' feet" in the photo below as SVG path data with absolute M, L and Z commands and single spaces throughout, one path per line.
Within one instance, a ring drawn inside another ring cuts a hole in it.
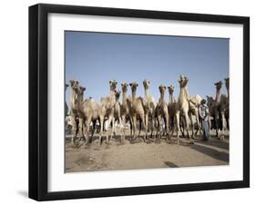
M 66 144 L 66 172 L 128 170 L 146 168 L 176 168 L 229 164 L 229 137 L 224 141 L 211 137 L 209 142 L 180 139 L 180 145 L 169 144 L 165 139 L 160 143 L 136 142 L 130 144 L 128 137 L 120 145 L 119 136 L 111 144 L 105 141 L 98 145 L 97 135 L 91 145 L 79 148 Z

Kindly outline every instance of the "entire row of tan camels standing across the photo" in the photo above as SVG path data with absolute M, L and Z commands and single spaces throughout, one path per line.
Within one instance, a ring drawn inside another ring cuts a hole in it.
M 159 85 L 160 98 L 157 102 L 149 93 L 150 82 L 148 80 L 143 81 L 144 97 L 136 94 L 138 83 L 121 83 L 121 91 L 118 91 L 118 82 L 111 80 L 109 81 L 109 94 L 101 98 L 99 104 L 92 98 L 85 100 L 86 88 L 79 85 L 77 80 L 70 80 L 69 118 L 72 125 L 72 144 L 75 145 L 82 139 L 85 139 L 86 144 L 90 143 L 94 132 L 97 131 L 96 124 L 99 125 L 99 144 L 102 142 L 103 134 L 106 136 L 106 142 L 109 143 L 116 133 L 116 122 L 120 127 L 121 143 L 126 137 L 127 124 L 130 128 L 130 142 L 137 139 L 140 132 L 143 132 L 144 142 L 159 142 L 163 135 L 166 135 L 167 141 L 170 142 L 170 137 L 177 132 L 179 144 L 180 132 L 182 135 L 187 132 L 189 142 L 192 143 L 195 135 L 194 125 L 197 125 L 197 132 L 201 129 L 199 105 L 202 98 L 198 94 L 189 97 L 188 83 L 189 78 L 180 75 L 177 101 L 173 97 L 174 86 L 168 86 L 169 102 L 165 101 L 167 87 Z M 216 97 L 207 96 L 210 110 L 209 125 L 211 129 L 216 130 L 216 135 L 220 139 L 223 137 L 223 132 L 229 129 L 229 78 L 225 79 L 225 84 L 228 96 L 221 94 L 221 81 L 215 83 Z M 69 84 L 66 84 L 66 90 L 68 86 Z M 128 96 L 128 88 L 130 88 L 131 96 Z M 122 102 L 119 102 L 121 94 Z M 66 115 L 68 115 L 67 102 Z

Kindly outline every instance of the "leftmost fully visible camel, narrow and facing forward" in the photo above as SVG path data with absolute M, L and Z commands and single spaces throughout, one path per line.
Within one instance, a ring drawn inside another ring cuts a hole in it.
M 72 124 L 72 140 L 71 143 L 74 145 L 77 138 L 77 118 L 78 118 L 78 110 L 77 110 L 77 90 L 79 87 L 79 82 L 77 80 L 70 80 L 70 116 L 71 116 L 71 124 Z

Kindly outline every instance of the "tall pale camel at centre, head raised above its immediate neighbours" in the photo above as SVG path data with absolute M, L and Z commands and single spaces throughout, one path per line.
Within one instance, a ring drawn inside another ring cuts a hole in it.
M 155 118 L 156 118 L 156 107 L 157 102 L 155 102 L 155 99 L 149 94 L 149 86 L 150 82 L 145 79 L 143 81 L 144 89 L 145 89 L 145 96 L 144 96 L 144 102 L 145 102 L 145 126 L 148 130 L 148 118 L 150 119 L 150 131 L 151 136 L 153 134 L 154 128 L 155 128 Z

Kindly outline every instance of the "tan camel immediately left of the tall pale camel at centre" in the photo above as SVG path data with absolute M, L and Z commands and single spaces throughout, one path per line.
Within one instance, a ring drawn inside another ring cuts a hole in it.
M 141 121 L 142 130 L 145 132 L 144 142 L 147 142 L 147 129 L 145 125 L 145 103 L 142 97 L 136 97 L 136 90 L 138 87 L 138 83 L 129 83 L 131 88 L 132 96 L 128 99 L 129 102 L 129 114 L 132 122 L 132 132 L 133 138 L 132 140 L 137 139 L 136 131 L 137 131 L 137 118 Z

